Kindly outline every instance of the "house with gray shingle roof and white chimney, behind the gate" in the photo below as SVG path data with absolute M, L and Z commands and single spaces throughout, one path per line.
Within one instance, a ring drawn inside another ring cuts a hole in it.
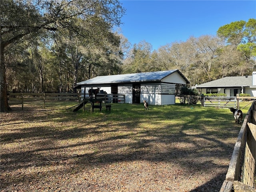
M 200 85 L 195 88 L 200 93 L 225 93 L 228 97 L 236 96 L 236 94 L 246 93 L 252 97 L 256 97 L 256 72 L 252 72 L 252 76 L 236 76 L 224 77 Z

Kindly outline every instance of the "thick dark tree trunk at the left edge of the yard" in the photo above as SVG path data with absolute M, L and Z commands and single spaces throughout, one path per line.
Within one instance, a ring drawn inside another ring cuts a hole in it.
M 7 100 L 7 87 L 6 87 L 6 74 L 4 64 L 4 45 L 1 44 L 0 48 L 0 112 L 8 112 Z

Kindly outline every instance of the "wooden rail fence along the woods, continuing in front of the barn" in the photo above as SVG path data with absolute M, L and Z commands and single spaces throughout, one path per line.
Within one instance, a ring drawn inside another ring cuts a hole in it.
M 44 108 L 46 102 L 53 100 L 78 100 L 80 103 L 84 98 L 84 95 L 81 93 L 8 93 L 8 100 L 19 102 L 22 105 L 22 110 L 25 103 L 30 102 L 43 102 Z M 89 95 L 86 95 L 86 98 L 89 98 Z M 105 103 L 125 103 L 124 94 L 97 94 L 97 98 L 102 99 Z

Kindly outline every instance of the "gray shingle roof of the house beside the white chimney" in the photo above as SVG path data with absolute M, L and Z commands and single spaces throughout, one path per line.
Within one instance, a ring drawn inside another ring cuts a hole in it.
M 200 84 L 196 87 L 204 88 L 204 87 L 236 87 L 236 86 L 251 87 L 252 76 L 247 76 L 247 78 L 246 76 L 224 77 L 221 79 Z

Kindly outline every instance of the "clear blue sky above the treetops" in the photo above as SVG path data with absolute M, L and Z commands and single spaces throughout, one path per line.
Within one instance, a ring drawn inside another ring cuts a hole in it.
M 121 0 L 121 33 L 131 44 L 145 40 L 153 50 L 190 36 L 216 35 L 218 28 L 256 18 L 256 0 Z

